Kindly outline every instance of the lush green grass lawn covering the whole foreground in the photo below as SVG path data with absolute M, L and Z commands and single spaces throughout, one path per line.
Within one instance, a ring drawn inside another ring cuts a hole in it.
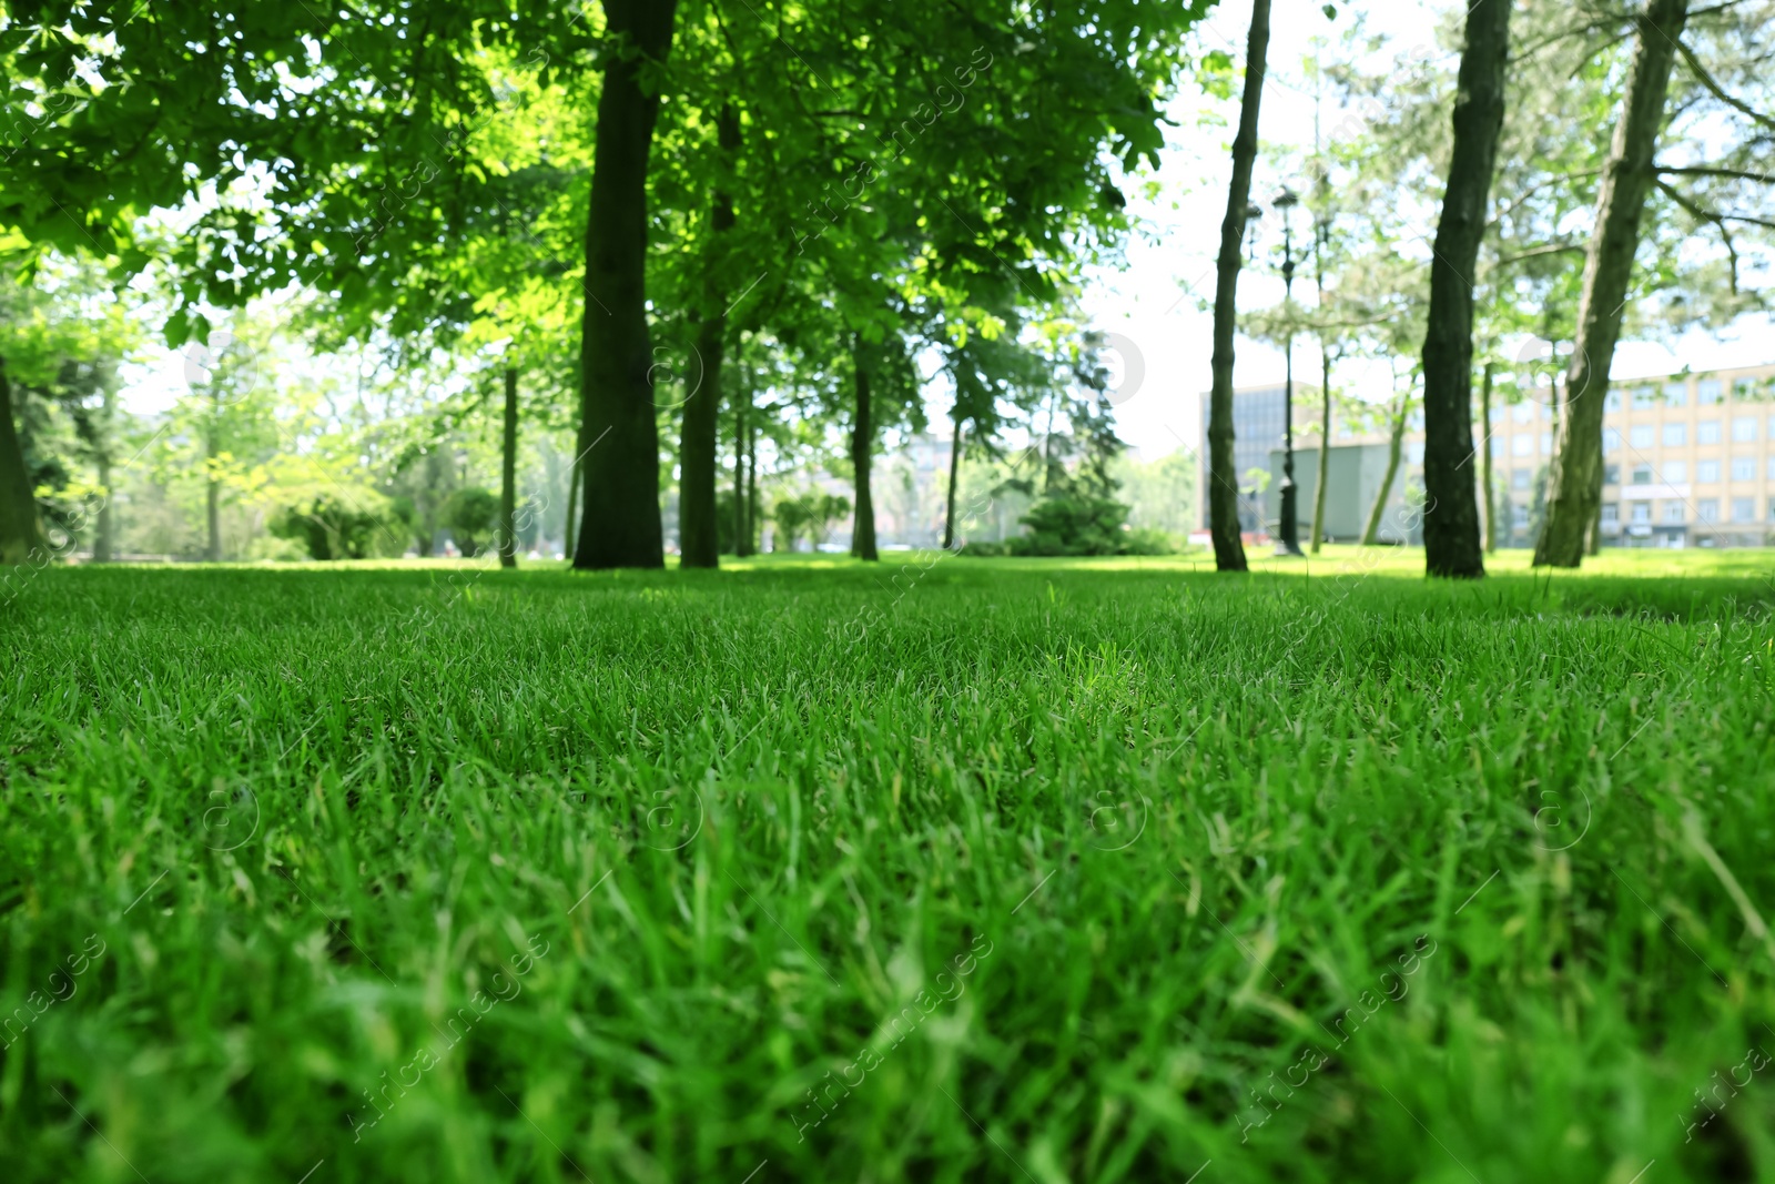
M 1523 559 L 28 577 L 0 1179 L 1775 1180 L 1775 556 Z

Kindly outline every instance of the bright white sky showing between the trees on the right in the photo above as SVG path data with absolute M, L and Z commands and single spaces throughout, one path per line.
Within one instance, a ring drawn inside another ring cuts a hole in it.
M 1312 39 L 1326 37 L 1331 46 L 1347 25 L 1351 4 L 1338 4 L 1344 12 L 1328 21 L 1319 4 L 1278 5 L 1269 39 L 1269 80 L 1264 87 L 1264 107 L 1258 131 L 1266 147 L 1294 144 L 1310 149 L 1314 142 L 1314 101 L 1301 73 L 1301 60 L 1312 53 Z M 1399 59 L 1408 59 L 1420 46 L 1436 60 L 1457 55 L 1436 46 L 1438 14 L 1447 4 L 1413 4 L 1411 0 L 1376 0 L 1367 5 L 1372 32 L 1384 34 Z M 1242 69 L 1244 44 L 1251 20 L 1248 0 L 1223 0 L 1207 20 L 1203 39 L 1234 55 Z M 1223 126 L 1200 126 L 1196 112 L 1223 108 Z M 1129 193 L 1129 211 L 1138 213 L 1157 241 L 1129 245 L 1129 268 L 1104 273 L 1085 300 L 1086 312 L 1104 332 L 1122 334 L 1141 355 L 1145 376 L 1138 389 L 1124 396 L 1116 407 L 1122 438 L 1140 449 L 1147 460 L 1163 456 L 1180 446 L 1191 449 L 1202 438 L 1202 396 L 1209 389 L 1209 355 L 1212 353 L 1212 316 L 1198 311 L 1198 298 L 1214 300 L 1214 256 L 1219 252 L 1219 224 L 1227 213 L 1227 186 L 1232 176 L 1230 144 L 1237 130 L 1239 103 L 1209 103 L 1186 94 L 1173 107 L 1177 128 L 1170 130 L 1168 147 L 1159 169 L 1161 199 L 1148 202 Z M 1337 124 L 1329 110 L 1324 126 Z M 1282 185 L 1303 190 L 1299 178 L 1278 176 L 1266 169 L 1258 156 L 1251 181 L 1253 201 L 1267 204 Z M 1431 233 L 1431 227 L 1425 227 Z M 1274 231 L 1280 241 L 1280 229 Z M 1296 249 L 1308 241 L 1306 218 L 1296 211 Z M 1253 249 L 1269 254 L 1273 243 L 1257 241 Z M 1310 273 L 1296 273 L 1296 298 L 1312 300 Z M 1239 275 L 1239 305 L 1255 309 L 1282 300 L 1282 277 L 1246 266 Z M 1285 373 L 1282 350 L 1262 346 L 1241 337 L 1235 346 L 1237 362 L 1234 385 L 1250 387 L 1280 383 Z M 1715 337 L 1692 332 L 1679 339 L 1674 350 L 1653 343 L 1622 343 L 1615 353 L 1617 378 L 1640 378 L 1681 369 L 1716 369 L 1729 366 L 1755 366 L 1775 362 L 1775 330 L 1766 320 L 1745 325 L 1734 337 Z M 1294 378 L 1317 385 L 1319 351 L 1312 339 L 1296 344 Z M 1388 394 L 1388 371 L 1383 362 L 1361 369 L 1345 362 L 1338 382 L 1349 382 L 1363 398 Z

